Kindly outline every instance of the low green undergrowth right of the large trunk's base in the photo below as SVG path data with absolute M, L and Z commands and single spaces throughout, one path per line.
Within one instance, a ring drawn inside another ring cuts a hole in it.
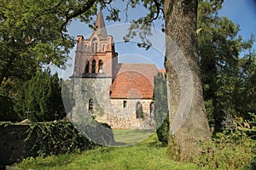
M 254 169 L 256 143 L 242 131 L 217 133 L 213 141 L 202 144 L 196 163 L 206 169 Z

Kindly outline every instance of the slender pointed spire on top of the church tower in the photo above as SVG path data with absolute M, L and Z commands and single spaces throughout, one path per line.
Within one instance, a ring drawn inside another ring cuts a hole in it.
M 96 25 L 96 34 L 101 39 L 106 39 L 107 38 L 107 30 L 106 30 L 106 26 L 105 26 L 103 15 L 102 15 L 102 9 L 100 9 L 100 11 L 97 15 L 95 25 Z

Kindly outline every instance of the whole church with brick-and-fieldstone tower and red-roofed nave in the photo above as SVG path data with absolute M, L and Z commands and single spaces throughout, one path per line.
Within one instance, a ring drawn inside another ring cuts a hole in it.
M 113 129 L 154 128 L 154 64 L 119 63 L 102 12 L 89 38 L 78 36 L 73 79 L 76 106 Z M 79 98 L 79 102 L 77 102 Z

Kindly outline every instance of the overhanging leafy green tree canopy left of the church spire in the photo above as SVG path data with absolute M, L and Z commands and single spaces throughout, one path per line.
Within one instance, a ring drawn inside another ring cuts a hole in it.
M 0 81 L 3 77 L 27 80 L 43 65 L 65 65 L 75 42 L 67 26 L 75 18 L 90 23 L 98 2 L 1 1 Z

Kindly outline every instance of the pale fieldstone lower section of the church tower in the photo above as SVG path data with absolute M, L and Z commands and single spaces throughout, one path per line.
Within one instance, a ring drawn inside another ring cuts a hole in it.
M 107 122 L 109 110 L 109 87 L 111 78 L 75 78 L 72 111 L 73 122 L 83 121 L 88 115 L 95 116 L 98 122 Z M 93 101 L 93 110 L 89 111 L 89 100 Z

